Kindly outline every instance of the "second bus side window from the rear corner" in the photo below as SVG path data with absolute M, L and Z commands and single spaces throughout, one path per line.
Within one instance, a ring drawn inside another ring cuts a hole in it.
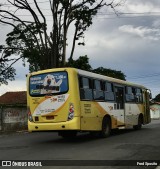
M 94 100 L 104 100 L 103 82 L 100 80 L 94 80 Z

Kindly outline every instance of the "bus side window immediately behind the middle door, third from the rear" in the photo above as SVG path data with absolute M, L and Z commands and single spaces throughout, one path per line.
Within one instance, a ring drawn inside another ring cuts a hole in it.
M 114 101 L 114 91 L 113 91 L 113 84 L 109 82 L 105 82 L 105 100 L 106 101 Z

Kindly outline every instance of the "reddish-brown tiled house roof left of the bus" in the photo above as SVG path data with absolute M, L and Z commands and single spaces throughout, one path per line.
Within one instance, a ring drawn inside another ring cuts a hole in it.
M 6 92 L 0 96 L 0 104 L 26 104 L 27 93 L 26 91 Z

